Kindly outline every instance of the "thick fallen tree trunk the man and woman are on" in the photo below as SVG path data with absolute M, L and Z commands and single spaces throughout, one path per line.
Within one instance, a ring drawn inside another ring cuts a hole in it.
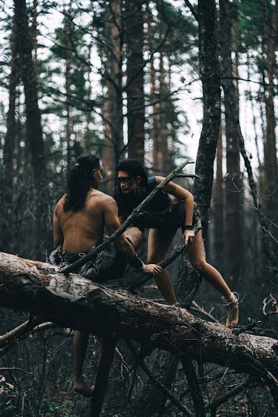
M 47 263 L 0 253 L 0 304 L 39 314 L 60 327 L 152 343 L 178 357 L 186 354 L 197 361 L 229 366 L 278 386 L 274 338 L 236 335 L 186 309 L 101 286 L 80 275 L 66 277 Z

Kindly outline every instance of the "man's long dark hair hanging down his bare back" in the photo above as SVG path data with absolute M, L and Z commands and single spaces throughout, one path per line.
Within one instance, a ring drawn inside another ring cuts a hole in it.
M 99 167 L 99 158 L 91 154 L 80 155 L 67 180 L 64 211 L 79 211 L 84 206 L 94 177 L 92 170 Z

